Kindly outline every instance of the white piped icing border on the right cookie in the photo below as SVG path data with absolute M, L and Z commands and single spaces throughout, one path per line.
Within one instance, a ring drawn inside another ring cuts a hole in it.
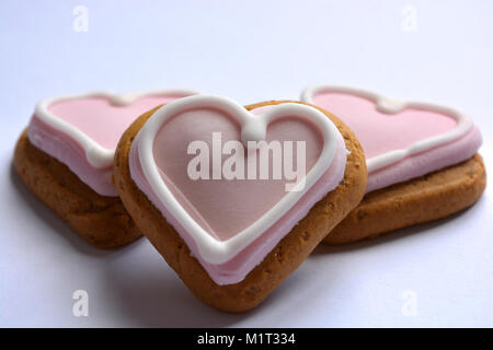
M 416 141 L 405 149 L 393 150 L 367 160 L 366 166 L 368 168 L 368 173 L 398 163 L 399 161 L 405 159 L 409 155 L 428 151 L 435 147 L 460 139 L 462 136 L 469 132 L 473 126 L 472 120 L 468 116 L 449 107 L 423 102 L 397 101 L 383 95 L 379 95 L 374 92 L 353 88 L 333 86 L 333 85 L 310 86 L 305 89 L 303 92 L 301 93 L 301 101 L 314 105 L 313 96 L 318 93 L 324 92 L 344 93 L 370 100 L 375 103 L 377 110 L 390 115 L 397 114 L 408 108 L 415 108 L 445 114 L 457 120 L 457 126 L 447 132 Z M 323 106 L 320 107 L 323 108 Z

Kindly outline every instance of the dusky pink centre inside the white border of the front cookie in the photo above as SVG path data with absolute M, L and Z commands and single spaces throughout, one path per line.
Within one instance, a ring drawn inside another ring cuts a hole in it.
M 192 141 L 203 140 L 213 150 L 213 132 L 221 132 L 222 144 L 241 139 L 238 122 L 219 110 L 183 113 L 179 118 L 167 122 L 156 136 L 154 160 L 161 177 L 183 208 L 209 234 L 219 241 L 226 241 L 246 229 L 277 203 L 286 195 L 286 180 L 191 179 L 186 173 L 187 164 L 195 155 L 186 154 L 187 147 Z M 323 144 L 313 126 L 297 119 L 271 124 L 266 141 L 272 140 L 306 141 L 307 172 L 313 167 Z M 228 158 L 229 155 L 222 155 L 222 162 Z M 294 163 L 296 166 L 296 159 Z M 272 163 L 270 165 L 272 174 Z M 246 168 L 244 174 L 246 177 Z M 213 178 L 211 162 L 209 177 Z

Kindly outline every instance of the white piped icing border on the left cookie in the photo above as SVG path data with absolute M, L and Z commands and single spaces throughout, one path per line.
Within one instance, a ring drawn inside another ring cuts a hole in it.
M 68 100 L 79 98 L 106 98 L 112 105 L 115 106 L 128 106 L 136 100 L 146 96 L 167 96 L 167 95 L 183 95 L 191 96 L 196 95 L 198 92 L 193 90 L 156 90 L 156 91 L 141 91 L 124 94 L 114 94 L 106 91 L 91 92 L 85 94 L 72 94 L 54 96 L 42 100 L 35 107 L 35 115 L 50 127 L 69 135 L 77 143 L 79 143 L 85 151 L 85 158 L 89 164 L 95 168 L 105 168 L 113 164 L 113 158 L 115 149 L 106 149 L 99 144 L 95 140 L 91 139 L 88 135 L 76 128 L 73 125 L 65 121 L 60 117 L 48 110 L 48 107 L 54 103 Z M 136 116 L 137 118 L 138 116 Z

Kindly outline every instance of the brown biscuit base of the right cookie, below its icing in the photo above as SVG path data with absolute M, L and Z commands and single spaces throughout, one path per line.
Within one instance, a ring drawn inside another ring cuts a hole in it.
M 481 155 L 382 188 L 363 201 L 324 240 L 335 245 L 448 217 L 472 206 L 486 186 Z

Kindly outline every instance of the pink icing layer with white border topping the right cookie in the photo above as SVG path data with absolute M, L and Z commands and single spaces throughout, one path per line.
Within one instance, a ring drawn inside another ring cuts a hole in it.
M 301 100 L 330 110 L 355 131 L 367 158 L 367 191 L 457 164 L 481 144 L 471 119 L 448 107 L 329 85 L 306 89 Z

